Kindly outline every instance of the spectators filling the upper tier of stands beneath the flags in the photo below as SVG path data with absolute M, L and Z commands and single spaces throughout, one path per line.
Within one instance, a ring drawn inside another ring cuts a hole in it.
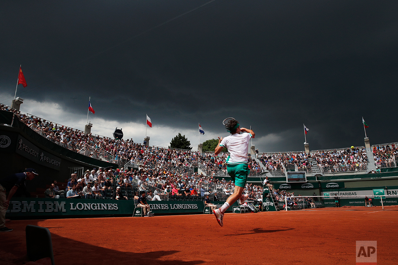
M 201 156 L 197 151 L 145 146 L 135 143 L 133 139 L 118 140 L 92 135 L 91 133 L 86 134 L 83 131 L 52 123 L 39 117 L 21 114 L 19 111 L 5 105 L 0 105 L 0 107 L 3 110 L 13 111 L 23 123 L 39 131 L 53 142 L 57 142 L 76 152 L 82 152 L 82 150 L 88 148 L 90 150 L 90 153 L 87 154 L 88 156 L 96 158 L 103 156 L 121 166 L 131 161 L 135 165 L 147 165 L 159 171 L 170 171 L 175 175 L 185 177 L 192 175 L 193 168 L 201 164 L 205 175 L 213 177 L 227 175 L 226 159 L 228 153 L 220 153 L 216 156 L 214 152 L 206 152 Z M 377 166 L 395 166 L 394 156 L 398 154 L 397 147 L 396 144 L 374 146 L 373 155 Z M 249 168 L 252 175 L 262 173 L 265 170 L 271 172 L 280 171 L 281 174 L 284 174 L 285 169 L 294 170 L 297 168 L 299 171 L 308 171 L 312 168 L 311 155 L 305 152 L 263 153 L 260 155 L 258 150 L 256 150 L 256 156 L 263 164 L 263 167 L 248 154 Z M 324 173 L 364 170 L 368 163 L 365 148 L 317 151 L 312 153 L 312 159 L 315 160 Z

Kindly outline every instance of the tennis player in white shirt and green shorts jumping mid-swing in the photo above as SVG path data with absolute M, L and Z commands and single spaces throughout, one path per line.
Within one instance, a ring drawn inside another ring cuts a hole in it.
M 246 128 L 240 128 L 238 121 L 234 118 L 227 118 L 223 124 L 225 129 L 232 135 L 224 138 L 219 138 L 219 146 L 215 148 L 214 153 L 218 155 L 221 150 L 226 147 L 230 155 L 226 160 L 228 175 L 232 177 L 232 181 L 235 183 L 234 193 L 228 197 L 226 202 L 221 208 L 213 210 L 216 216 L 217 222 L 220 226 L 223 226 L 222 218 L 224 218 L 224 212 L 239 199 L 239 204 L 244 204 L 248 198 L 248 194 L 243 195 L 242 192 L 246 185 L 246 180 L 249 175 L 248 167 L 248 148 L 250 138 L 254 138 L 255 133 L 252 130 Z M 243 132 L 243 134 L 240 134 Z

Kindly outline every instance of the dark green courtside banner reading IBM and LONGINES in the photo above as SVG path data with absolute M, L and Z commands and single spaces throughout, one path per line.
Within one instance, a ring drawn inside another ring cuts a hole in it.
M 212 202 L 221 207 L 224 202 Z M 203 213 L 203 201 L 148 201 L 156 214 Z M 228 208 L 232 212 L 234 203 Z M 51 198 L 13 198 L 6 216 L 62 216 L 62 215 L 133 215 L 134 201 L 94 200 L 94 199 L 51 199 Z

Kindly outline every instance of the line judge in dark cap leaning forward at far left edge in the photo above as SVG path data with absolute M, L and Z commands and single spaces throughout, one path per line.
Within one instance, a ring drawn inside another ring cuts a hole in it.
M 20 186 L 25 185 L 25 180 L 32 180 L 37 175 L 39 174 L 33 168 L 27 168 L 23 173 L 15 173 L 0 179 L 0 232 L 12 231 L 6 227 L 6 211 L 12 196 Z

